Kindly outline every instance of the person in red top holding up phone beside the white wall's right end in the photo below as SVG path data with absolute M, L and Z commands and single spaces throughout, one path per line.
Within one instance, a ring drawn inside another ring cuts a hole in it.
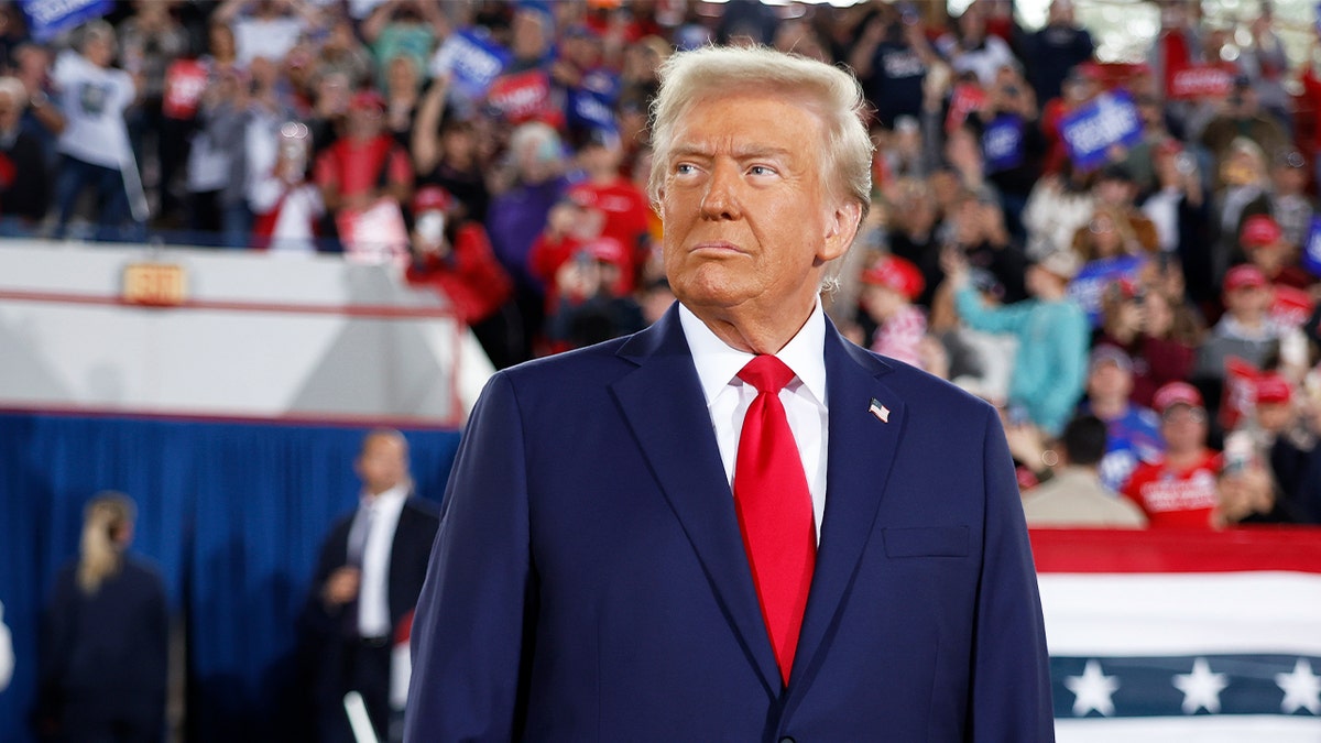
M 495 260 L 481 222 L 462 219 L 464 206 L 440 186 L 419 190 L 412 212 L 408 282 L 428 284 L 449 299 L 497 369 L 518 362 L 511 344 L 518 315 L 510 304 L 514 282 Z

